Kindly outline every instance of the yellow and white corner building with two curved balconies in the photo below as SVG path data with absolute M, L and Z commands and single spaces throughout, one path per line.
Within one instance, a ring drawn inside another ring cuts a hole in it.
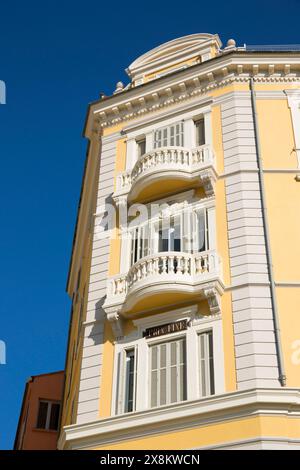
M 88 108 L 60 449 L 300 449 L 300 50 L 163 44 Z

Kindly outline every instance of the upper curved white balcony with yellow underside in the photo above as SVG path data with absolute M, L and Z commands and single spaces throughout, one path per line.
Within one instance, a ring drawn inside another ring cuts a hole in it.
M 145 153 L 132 171 L 118 175 L 114 199 L 127 196 L 128 202 L 143 201 L 159 193 L 170 193 L 188 186 L 202 186 L 205 194 L 214 192 L 215 159 L 209 145 L 189 150 L 164 147 Z M 163 183 L 163 186 L 162 184 Z

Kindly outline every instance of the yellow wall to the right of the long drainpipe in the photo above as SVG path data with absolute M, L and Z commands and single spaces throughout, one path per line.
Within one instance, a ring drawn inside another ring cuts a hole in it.
M 298 283 L 277 287 L 276 298 L 287 386 L 300 387 L 300 183 L 293 125 L 286 99 L 257 100 L 257 112 L 263 168 L 277 170 L 264 172 L 275 282 Z

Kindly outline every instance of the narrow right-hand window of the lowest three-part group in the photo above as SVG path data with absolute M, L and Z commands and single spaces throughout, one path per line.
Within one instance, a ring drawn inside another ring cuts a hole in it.
M 215 393 L 212 331 L 199 334 L 200 396 Z

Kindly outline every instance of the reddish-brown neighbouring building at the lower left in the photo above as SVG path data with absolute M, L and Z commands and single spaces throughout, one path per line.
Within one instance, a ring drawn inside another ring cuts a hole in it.
M 56 450 L 64 371 L 30 377 L 25 386 L 14 450 Z

